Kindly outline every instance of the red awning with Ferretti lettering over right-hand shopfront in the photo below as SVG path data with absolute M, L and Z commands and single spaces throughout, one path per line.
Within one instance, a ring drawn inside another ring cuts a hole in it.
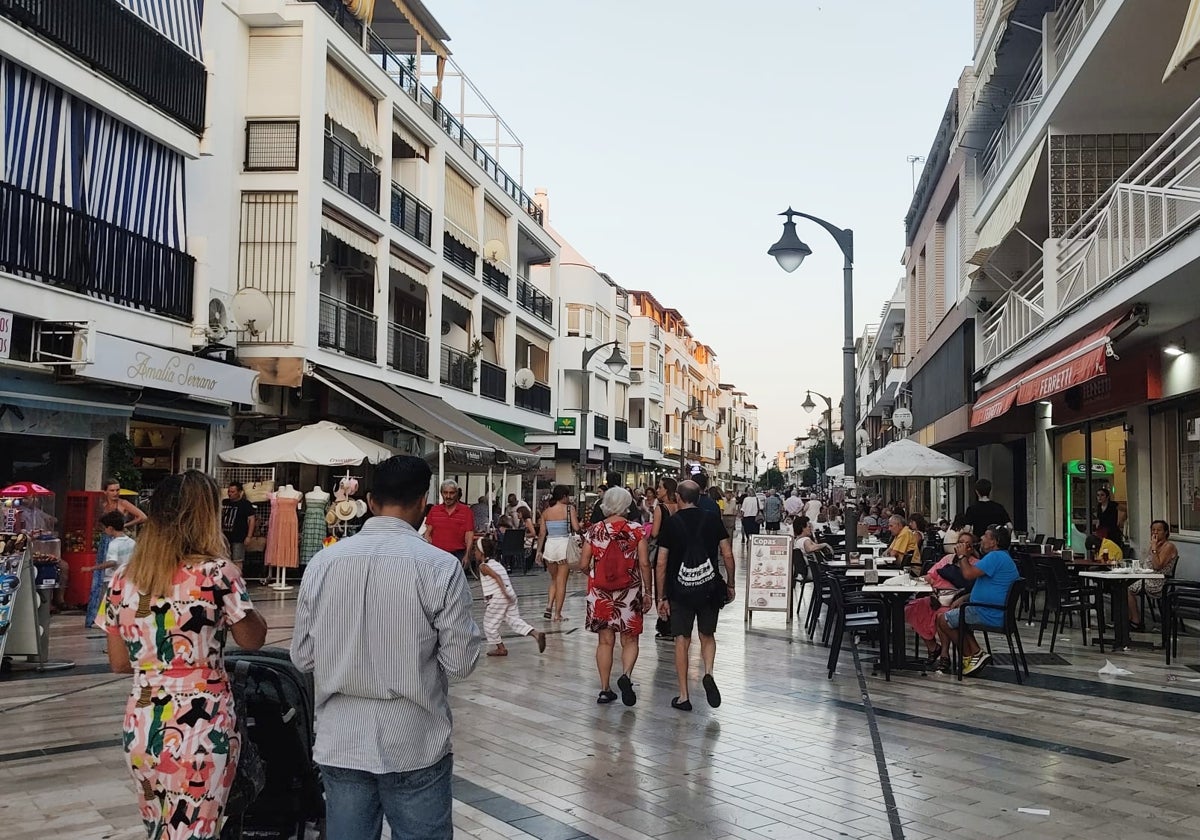
M 971 426 L 982 426 L 989 420 L 995 420 L 1014 404 L 1027 406 L 1031 402 L 1046 400 L 1068 388 L 1104 376 L 1111 343 L 1109 334 L 1124 319 L 1126 316 L 1114 319 L 1067 349 L 1038 362 L 1020 378 L 980 394 L 971 408 Z

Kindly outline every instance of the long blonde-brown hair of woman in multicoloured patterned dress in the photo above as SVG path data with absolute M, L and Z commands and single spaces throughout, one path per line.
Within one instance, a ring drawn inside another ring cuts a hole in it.
M 181 564 L 228 556 L 221 491 L 197 469 L 163 479 L 150 497 L 146 517 L 125 572 L 145 595 L 169 598 Z

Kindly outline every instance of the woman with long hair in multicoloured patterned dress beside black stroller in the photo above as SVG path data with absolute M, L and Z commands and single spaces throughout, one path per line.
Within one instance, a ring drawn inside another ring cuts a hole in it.
M 266 623 L 227 558 L 216 482 L 158 485 L 130 564 L 108 589 L 108 661 L 132 673 L 125 752 L 150 840 L 216 840 L 241 743 L 226 634 L 257 649 Z

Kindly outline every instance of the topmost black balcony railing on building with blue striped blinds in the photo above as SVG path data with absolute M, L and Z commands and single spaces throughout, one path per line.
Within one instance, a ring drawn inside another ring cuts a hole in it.
M 0 17 L 62 47 L 199 134 L 208 71 L 118 0 L 0 0 Z

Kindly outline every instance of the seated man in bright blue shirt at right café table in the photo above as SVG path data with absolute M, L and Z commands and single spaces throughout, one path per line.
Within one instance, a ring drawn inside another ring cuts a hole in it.
M 983 558 L 971 565 L 966 558 L 959 558 L 959 570 L 962 577 L 970 583 L 971 600 L 967 601 L 966 622 L 968 626 L 998 628 L 1004 623 L 1003 604 L 1008 599 L 1008 590 L 1021 576 L 1016 570 L 1016 564 L 1008 553 L 1009 535 L 1008 529 L 1000 526 L 991 526 L 984 530 L 979 539 L 979 548 Z M 972 604 L 992 604 L 997 606 L 971 606 Z M 962 613 L 958 607 L 937 617 L 937 635 L 942 642 L 942 650 L 949 650 L 950 644 L 956 642 L 959 631 L 959 618 Z M 962 673 L 974 673 L 982 668 L 991 654 L 979 649 L 979 643 L 974 640 L 974 634 L 970 630 L 962 640 Z

